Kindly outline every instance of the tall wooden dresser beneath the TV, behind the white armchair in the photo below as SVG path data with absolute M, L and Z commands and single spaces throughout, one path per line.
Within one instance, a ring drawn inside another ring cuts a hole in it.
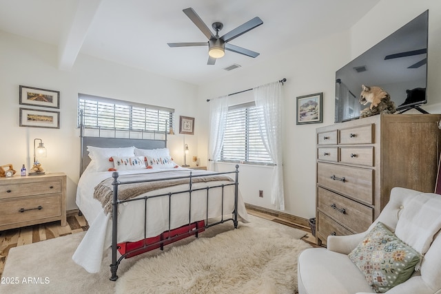
M 316 241 L 361 233 L 393 187 L 435 191 L 438 114 L 382 114 L 316 129 Z

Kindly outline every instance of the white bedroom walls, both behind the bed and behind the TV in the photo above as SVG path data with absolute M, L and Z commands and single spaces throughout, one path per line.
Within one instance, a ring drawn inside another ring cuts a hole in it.
M 429 9 L 429 104 L 423 108 L 441 113 L 441 1 L 382 0 L 346 32 L 289 48 L 278 56 L 260 55 L 254 67 L 240 67 L 232 76 L 218 78 L 200 87 L 170 80 L 156 74 L 80 55 L 70 72 L 57 70 L 57 48 L 0 32 L 0 165 L 12 163 L 19 169 L 32 161 L 32 141 L 42 138 L 48 158 L 42 160 L 48 171 L 68 174 L 68 209 L 74 204 L 79 178 L 79 132 L 76 129 L 76 99 L 79 92 L 96 96 L 163 105 L 180 115 L 195 117 L 195 136 L 169 138 L 174 160 L 183 163 L 183 143 L 191 156 L 207 165 L 207 98 L 234 93 L 250 87 L 287 78 L 285 96 L 286 212 L 311 218 L 315 215 L 315 129 L 334 123 L 334 79 L 338 68 L 402 25 Z M 61 128 L 19 127 L 19 85 L 61 91 Z M 323 123 L 296 125 L 296 97 L 323 92 Z M 234 99 L 234 96 L 233 96 Z M 237 97 L 237 99 L 240 99 Z M 192 162 L 191 162 L 192 163 Z M 217 169 L 234 168 L 220 165 Z M 245 202 L 274 209 L 269 201 L 271 167 L 240 165 L 240 189 Z M 258 197 L 258 190 L 264 197 Z

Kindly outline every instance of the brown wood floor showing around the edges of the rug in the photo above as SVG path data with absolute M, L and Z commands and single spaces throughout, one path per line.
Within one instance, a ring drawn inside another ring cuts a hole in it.
M 308 242 L 313 246 L 317 246 L 316 238 L 314 238 L 314 236 L 311 234 L 311 229 L 309 227 L 304 227 L 300 224 L 295 224 L 282 218 L 275 218 L 274 216 L 270 216 L 259 211 L 249 209 L 247 211 L 253 216 L 286 224 L 290 227 L 295 227 L 296 229 L 305 231 L 307 235 L 302 238 L 302 240 L 305 240 L 305 242 Z M 48 222 L 47 224 L 35 224 L 34 226 L 19 229 L 0 231 L 0 277 L 3 274 L 3 268 L 11 248 L 88 230 L 88 224 L 84 216 L 78 216 L 77 213 L 69 213 L 67 221 L 68 225 L 65 227 L 61 227 L 60 222 L 58 221 Z

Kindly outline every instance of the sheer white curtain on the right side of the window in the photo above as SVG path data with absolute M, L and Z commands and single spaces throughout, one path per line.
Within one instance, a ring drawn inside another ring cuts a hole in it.
M 283 193 L 283 96 L 279 82 L 269 83 L 253 89 L 258 112 L 258 125 L 263 144 L 273 160 L 271 204 L 285 210 Z

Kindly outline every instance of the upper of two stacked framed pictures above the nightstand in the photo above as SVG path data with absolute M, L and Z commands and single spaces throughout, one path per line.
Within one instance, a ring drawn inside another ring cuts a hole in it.
M 20 86 L 20 104 L 60 108 L 60 92 Z

